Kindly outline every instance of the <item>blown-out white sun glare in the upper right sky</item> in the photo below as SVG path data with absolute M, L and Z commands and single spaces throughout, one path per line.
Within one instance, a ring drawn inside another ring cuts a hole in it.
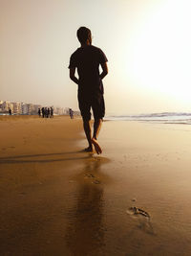
M 190 7 L 188 1 L 168 1 L 141 25 L 132 45 L 134 80 L 181 102 L 191 95 Z

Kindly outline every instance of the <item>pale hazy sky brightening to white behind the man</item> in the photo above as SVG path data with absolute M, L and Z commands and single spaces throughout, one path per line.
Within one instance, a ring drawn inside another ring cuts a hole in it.
M 0 100 L 78 109 L 69 59 L 91 29 L 106 114 L 191 110 L 189 0 L 0 0 Z

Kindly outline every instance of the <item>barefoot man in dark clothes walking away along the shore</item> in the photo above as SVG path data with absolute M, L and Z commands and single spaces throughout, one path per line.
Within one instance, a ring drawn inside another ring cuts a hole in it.
M 97 135 L 105 115 L 102 79 L 108 74 L 106 63 L 108 60 L 99 48 L 92 45 L 92 35 L 88 28 L 80 27 L 77 30 L 77 38 L 81 47 L 71 56 L 70 78 L 78 84 L 78 104 L 89 144 L 85 151 L 93 151 L 94 145 L 96 153 L 99 154 L 102 150 L 97 142 Z M 99 74 L 99 65 L 102 68 L 101 74 Z M 75 77 L 75 69 L 77 69 L 78 78 Z M 91 107 L 95 118 L 93 136 L 90 124 Z

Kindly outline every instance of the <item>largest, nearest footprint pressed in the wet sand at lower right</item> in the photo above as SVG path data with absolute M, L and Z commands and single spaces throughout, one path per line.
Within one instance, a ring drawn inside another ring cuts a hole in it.
M 129 208 L 127 214 L 138 220 L 138 228 L 140 230 L 149 235 L 156 235 L 151 223 L 151 217 L 146 211 L 134 206 Z

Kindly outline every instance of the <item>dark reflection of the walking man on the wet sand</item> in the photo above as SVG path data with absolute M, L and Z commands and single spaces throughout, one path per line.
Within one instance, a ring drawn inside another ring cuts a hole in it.
M 81 175 L 87 178 L 77 184 L 76 203 L 66 230 L 66 242 L 73 255 L 99 255 L 104 245 L 103 187 L 94 183 L 100 166 L 101 161 L 95 158 L 86 161 Z

